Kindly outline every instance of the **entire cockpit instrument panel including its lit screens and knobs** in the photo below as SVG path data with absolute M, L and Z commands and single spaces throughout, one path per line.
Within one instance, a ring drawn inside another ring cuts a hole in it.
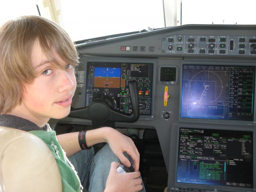
M 256 26 L 185 25 L 80 42 L 72 108 L 98 94 L 140 116 L 119 128 L 155 129 L 168 192 L 256 191 Z M 58 123 L 91 125 L 64 118 Z

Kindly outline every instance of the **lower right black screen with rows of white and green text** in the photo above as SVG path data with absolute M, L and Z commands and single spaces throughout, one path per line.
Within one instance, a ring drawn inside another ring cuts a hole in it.
M 253 132 L 180 128 L 177 182 L 253 187 Z

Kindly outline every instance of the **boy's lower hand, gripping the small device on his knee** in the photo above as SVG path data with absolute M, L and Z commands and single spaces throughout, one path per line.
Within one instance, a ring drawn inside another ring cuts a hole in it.
M 121 173 L 116 171 L 118 167 L 117 162 L 112 162 L 108 179 L 106 182 L 106 188 L 104 192 L 137 192 L 142 190 L 142 180 L 138 178 L 140 172 Z

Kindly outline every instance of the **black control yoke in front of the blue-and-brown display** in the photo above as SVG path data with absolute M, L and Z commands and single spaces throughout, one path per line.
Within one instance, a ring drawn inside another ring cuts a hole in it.
M 123 114 L 114 109 L 111 101 L 100 94 L 93 99 L 88 107 L 77 108 L 70 111 L 69 117 L 90 119 L 96 123 L 112 122 L 134 122 L 139 116 L 138 85 L 136 81 L 129 81 L 129 96 L 132 105 L 132 114 Z

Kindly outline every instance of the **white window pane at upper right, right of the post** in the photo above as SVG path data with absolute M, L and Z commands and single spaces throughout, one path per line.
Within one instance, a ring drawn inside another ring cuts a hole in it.
M 255 0 L 177 0 L 180 24 L 256 24 Z

